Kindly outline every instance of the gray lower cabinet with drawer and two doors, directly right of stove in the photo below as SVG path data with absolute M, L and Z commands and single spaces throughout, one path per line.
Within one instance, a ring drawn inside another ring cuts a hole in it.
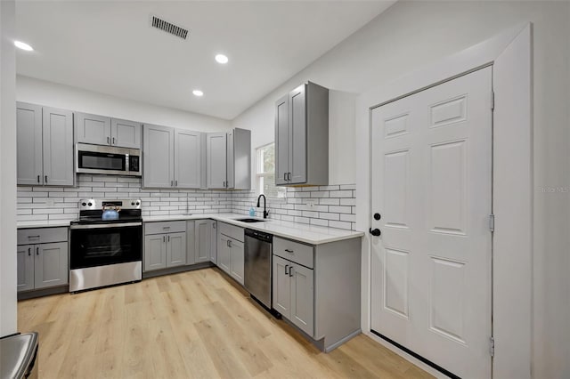
M 144 271 L 162 270 L 186 264 L 184 221 L 144 224 Z

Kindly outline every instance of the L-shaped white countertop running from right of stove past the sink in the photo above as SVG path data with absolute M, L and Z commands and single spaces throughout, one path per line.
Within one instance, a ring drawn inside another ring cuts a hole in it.
M 284 238 L 291 238 L 311 245 L 326 244 L 329 242 L 341 241 L 343 239 L 361 238 L 362 231 L 342 230 L 326 228 L 322 226 L 308 225 L 297 222 L 283 222 L 281 220 L 266 219 L 265 222 L 239 222 L 235 219 L 255 218 L 246 214 L 191 214 L 191 215 L 165 215 L 142 217 L 143 222 L 165 222 L 177 220 L 199 220 L 212 219 L 219 222 L 227 222 L 242 228 L 265 231 Z

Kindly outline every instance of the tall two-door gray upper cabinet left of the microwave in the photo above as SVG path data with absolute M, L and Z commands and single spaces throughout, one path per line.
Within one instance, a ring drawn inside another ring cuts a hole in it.
M 72 186 L 72 112 L 18 102 L 16 125 L 17 183 Z

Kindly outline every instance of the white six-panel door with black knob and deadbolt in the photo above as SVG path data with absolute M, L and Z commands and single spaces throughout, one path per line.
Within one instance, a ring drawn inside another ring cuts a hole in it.
M 489 67 L 371 112 L 371 329 L 464 378 L 491 377 L 491 93 Z

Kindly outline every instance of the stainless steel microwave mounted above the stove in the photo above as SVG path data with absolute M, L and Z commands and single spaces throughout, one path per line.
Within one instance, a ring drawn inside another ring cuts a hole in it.
M 76 144 L 76 173 L 141 176 L 141 150 Z

